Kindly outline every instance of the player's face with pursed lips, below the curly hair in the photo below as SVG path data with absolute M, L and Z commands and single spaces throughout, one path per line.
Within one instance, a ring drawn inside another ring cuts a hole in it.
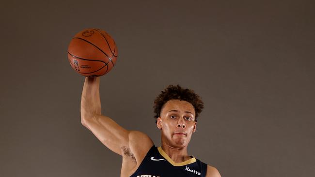
M 161 130 L 162 143 L 172 147 L 185 147 L 196 131 L 195 109 L 186 101 L 166 102 L 157 118 L 157 128 Z

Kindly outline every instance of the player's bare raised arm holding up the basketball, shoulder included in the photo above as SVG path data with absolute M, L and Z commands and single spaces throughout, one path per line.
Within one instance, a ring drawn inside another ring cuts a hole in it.
M 152 140 L 144 133 L 128 131 L 111 118 L 102 116 L 99 83 L 99 77 L 85 78 L 81 96 L 82 125 L 113 152 L 124 155 L 128 151 L 136 159 L 141 158 L 143 153 L 146 153 L 148 148 L 153 145 Z

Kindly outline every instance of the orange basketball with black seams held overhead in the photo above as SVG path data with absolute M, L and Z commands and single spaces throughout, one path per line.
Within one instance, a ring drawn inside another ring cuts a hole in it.
M 83 29 L 70 41 L 68 60 L 79 74 L 98 77 L 110 72 L 117 60 L 117 46 L 101 29 Z

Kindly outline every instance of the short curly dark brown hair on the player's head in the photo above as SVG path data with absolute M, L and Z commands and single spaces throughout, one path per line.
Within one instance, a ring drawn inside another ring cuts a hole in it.
M 157 118 L 160 116 L 163 105 L 169 100 L 181 100 L 191 103 L 196 113 L 195 121 L 197 121 L 197 117 L 204 108 L 204 102 L 201 100 L 201 97 L 197 95 L 193 90 L 188 88 L 182 88 L 179 85 L 177 86 L 169 85 L 167 88 L 161 91 L 161 93 L 154 100 L 153 108 L 156 123 Z

